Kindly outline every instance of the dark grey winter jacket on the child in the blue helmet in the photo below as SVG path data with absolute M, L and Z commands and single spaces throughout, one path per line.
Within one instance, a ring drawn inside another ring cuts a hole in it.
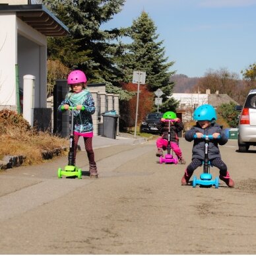
M 203 133 L 203 135 L 212 135 L 213 133 L 220 133 L 220 139 L 210 139 L 208 145 L 208 158 L 212 160 L 214 158 L 221 158 L 220 156 L 220 149 L 218 148 L 218 144 L 224 145 L 228 142 L 228 137 L 226 137 L 222 127 L 217 123 L 212 123 L 206 129 L 201 128 L 199 123 L 193 126 L 189 131 L 185 132 L 185 140 L 186 141 L 193 141 L 193 148 L 192 148 L 192 159 L 198 158 L 203 160 L 205 158 L 205 140 L 204 139 L 194 139 L 195 133 Z

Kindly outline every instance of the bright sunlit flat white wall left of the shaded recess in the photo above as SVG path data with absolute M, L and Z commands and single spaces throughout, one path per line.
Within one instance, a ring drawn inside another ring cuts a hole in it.
M 16 15 L 0 14 L 0 106 L 16 106 Z M 4 26 L 3 26 L 4 24 Z

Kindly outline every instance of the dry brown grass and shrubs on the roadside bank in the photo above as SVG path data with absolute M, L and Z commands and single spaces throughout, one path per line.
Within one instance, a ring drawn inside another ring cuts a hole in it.
M 22 155 L 27 165 L 44 162 L 44 150 L 69 146 L 67 139 L 32 129 L 22 115 L 10 110 L 0 111 L 0 143 L 0 160 L 6 155 Z

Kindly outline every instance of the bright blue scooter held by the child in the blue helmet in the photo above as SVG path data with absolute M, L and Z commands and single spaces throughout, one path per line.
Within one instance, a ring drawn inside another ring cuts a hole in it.
M 220 138 L 220 135 L 218 136 Z M 194 135 L 194 139 L 197 139 L 197 135 Z M 214 139 L 212 135 L 203 135 L 201 139 L 205 139 L 205 159 L 203 161 L 203 174 L 201 174 L 200 179 L 196 176 L 193 177 L 193 187 L 201 185 L 201 187 L 211 187 L 212 185 L 218 189 L 218 177 L 212 179 L 212 174 L 210 174 L 210 160 L 208 159 L 208 144 L 210 139 Z

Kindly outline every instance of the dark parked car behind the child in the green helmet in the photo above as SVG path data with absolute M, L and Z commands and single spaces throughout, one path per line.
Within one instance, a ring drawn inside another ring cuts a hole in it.
M 156 123 L 162 118 L 162 113 L 148 113 L 141 123 L 141 132 L 144 133 L 159 133 L 156 128 Z

